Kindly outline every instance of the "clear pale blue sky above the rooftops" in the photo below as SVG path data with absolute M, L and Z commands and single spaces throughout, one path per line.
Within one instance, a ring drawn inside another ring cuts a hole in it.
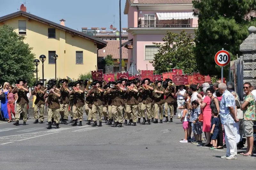
M 127 27 L 127 15 L 124 15 L 126 0 L 121 0 L 122 28 Z M 25 0 L 3 0 L 0 5 L 0 17 L 17 12 Z M 113 24 L 119 30 L 119 0 L 26 0 L 27 12 L 60 23 L 65 19 L 65 26 L 78 29 L 82 27 L 106 27 Z

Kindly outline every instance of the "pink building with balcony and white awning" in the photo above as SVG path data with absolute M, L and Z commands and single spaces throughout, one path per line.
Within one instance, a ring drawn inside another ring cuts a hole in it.
M 128 42 L 122 45 L 132 45 L 128 63 L 137 70 L 154 70 L 149 63 L 157 52 L 153 42 L 163 42 L 167 31 L 194 35 L 197 28 L 192 0 L 126 0 L 124 14 L 128 15 Z

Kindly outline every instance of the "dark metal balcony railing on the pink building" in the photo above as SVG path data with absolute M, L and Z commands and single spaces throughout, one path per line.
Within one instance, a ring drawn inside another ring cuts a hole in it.
M 197 27 L 197 25 L 190 24 L 190 20 L 158 20 L 158 19 L 140 19 L 138 21 L 138 27 L 141 28 L 173 28 L 173 27 Z

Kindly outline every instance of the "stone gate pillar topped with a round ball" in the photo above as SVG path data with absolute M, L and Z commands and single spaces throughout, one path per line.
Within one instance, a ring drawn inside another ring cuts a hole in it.
M 244 83 L 256 82 L 256 27 L 248 28 L 249 36 L 240 45 L 243 53 L 243 73 Z

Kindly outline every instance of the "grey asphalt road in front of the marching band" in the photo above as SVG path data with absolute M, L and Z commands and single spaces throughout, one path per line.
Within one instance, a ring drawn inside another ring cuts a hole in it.
M 182 124 L 173 120 L 122 128 L 83 121 L 81 127 L 70 123 L 50 130 L 34 120 L 26 126 L 3 122 L 0 169 L 256 169 L 255 157 L 221 159 L 223 150 L 180 143 Z

